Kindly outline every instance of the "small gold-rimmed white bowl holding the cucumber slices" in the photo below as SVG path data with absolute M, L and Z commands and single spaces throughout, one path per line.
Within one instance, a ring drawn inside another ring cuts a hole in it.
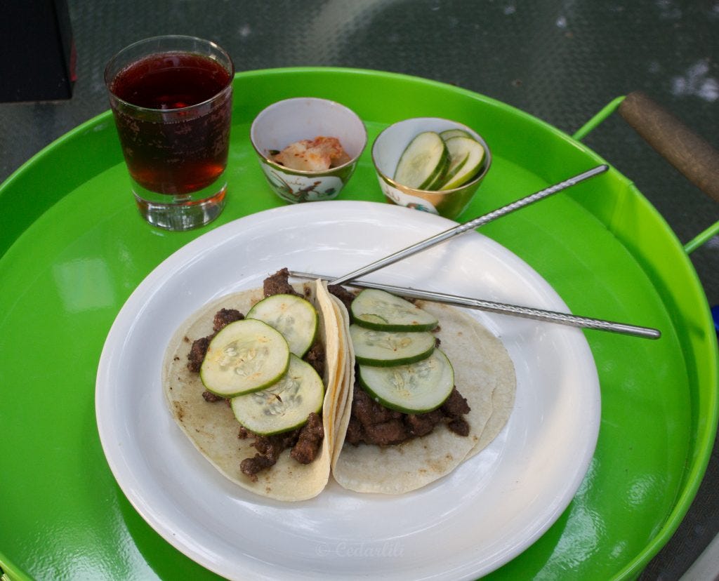
M 485 148 L 484 166 L 477 177 L 453 190 L 439 192 L 418 190 L 416 187 L 408 187 L 395 182 L 393 180 L 395 169 L 397 169 L 400 156 L 409 142 L 422 131 L 439 133 L 445 129 L 463 129 Z M 454 219 L 472 201 L 477 188 L 480 187 L 480 183 L 490 169 L 492 154 L 482 136 L 466 125 L 440 117 L 414 117 L 390 125 L 377 136 L 372 145 L 372 162 L 375 164 L 380 187 L 388 200 L 397 205 Z

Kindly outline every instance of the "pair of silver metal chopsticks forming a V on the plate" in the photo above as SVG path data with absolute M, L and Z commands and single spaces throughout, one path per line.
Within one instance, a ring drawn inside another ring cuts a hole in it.
M 324 279 L 327 280 L 329 284 L 349 284 L 349 286 L 358 288 L 381 289 L 387 292 L 391 292 L 393 294 L 401 294 L 404 297 L 444 302 L 449 305 L 470 307 L 473 309 L 484 310 L 488 312 L 497 312 L 503 315 L 513 315 L 516 317 L 524 317 L 533 320 L 555 322 L 561 325 L 569 325 L 572 327 L 611 331 L 613 333 L 622 333 L 624 335 L 633 335 L 635 337 L 641 338 L 658 339 L 659 337 L 661 337 L 661 333 L 659 332 L 659 330 L 652 329 L 650 327 L 640 327 L 638 325 L 628 325 L 621 322 L 594 319 L 591 317 L 581 317 L 579 315 L 570 315 L 569 313 L 564 312 L 535 309 L 533 307 L 521 307 L 518 305 L 508 305 L 500 302 L 472 299 L 469 297 L 457 297 L 452 294 L 444 294 L 440 292 L 432 292 L 420 289 L 405 289 L 401 287 L 391 287 L 386 284 L 358 282 L 355 280 L 359 278 L 359 276 L 364 276 L 365 274 L 374 272 L 375 270 L 380 269 L 383 266 L 393 264 L 401 259 L 406 258 L 407 256 L 411 256 L 412 254 L 416 254 L 417 252 L 426 250 L 426 248 L 430 248 L 435 244 L 446 241 L 449 238 L 459 236 L 459 234 L 473 230 L 474 228 L 478 228 L 479 226 L 482 226 L 492 220 L 500 218 L 503 215 L 507 215 L 510 212 L 519 210 L 520 208 L 525 208 L 526 206 L 539 200 L 544 200 L 550 195 L 554 195 L 557 192 L 561 192 L 562 190 L 567 189 L 567 187 L 578 184 L 584 180 L 589 179 L 590 177 L 594 177 L 595 175 L 599 175 L 600 173 L 605 172 L 607 169 L 608 166 L 603 164 L 592 168 L 587 172 L 582 172 L 579 175 L 570 177 L 568 180 L 564 180 L 563 182 L 559 182 L 555 185 L 547 187 L 544 190 L 535 192 L 532 195 L 523 197 L 521 200 L 517 200 L 516 202 L 505 205 L 498 210 L 494 210 L 493 212 L 482 215 L 479 218 L 475 218 L 474 220 L 470 220 L 469 222 L 465 222 L 463 224 L 460 224 L 459 226 L 455 226 L 454 228 L 449 228 L 449 230 L 436 234 L 435 236 L 426 238 L 423 241 L 413 244 L 412 246 L 408 246 L 407 248 L 395 252 L 394 254 L 390 254 L 389 256 L 385 256 L 385 258 L 383 259 L 372 262 L 371 264 L 367 264 L 367 266 L 363 266 L 361 269 L 352 271 L 349 274 L 345 274 L 344 276 L 333 278 L 331 276 L 298 271 L 290 271 L 290 274 L 298 278 Z

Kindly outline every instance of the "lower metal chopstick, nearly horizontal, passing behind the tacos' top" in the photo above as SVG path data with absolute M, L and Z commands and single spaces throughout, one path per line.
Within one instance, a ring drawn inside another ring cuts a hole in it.
M 311 274 L 308 272 L 290 271 L 291 276 L 300 279 L 322 279 L 331 281 L 331 276 L 322 274 Z M 330 282 L 329 284 L 334 284 Z M 398 294 L 402 297 L 410 297 L 413 299 L 426 299 L 435 302 L 443 302 L 447 305 L 457 305 L 459 307 L 470 307 L 487 312 L 497 312 L 502 315 L 513 315 L 514 317 L 523 317 L 525 319 L 533 319 L 537 321 L 554 322 L 559 325 L 569 325 L 570 327 L 581 327 L 584 329 L 595 329 L 599 331 L 610 331 L 612 333 L 621 333 L 623 335 L 633 335 L 645 339 L 659 339 L 661 332 L 651 327 L 639 327 L 638 325 L 628 325 L 622 322 L 606 321 L 602 319 L 593 319 L 591 317 L 580 317 L 579 315 L 569 315 L 565 312 L 548 311 L 543 309 L 535 309 L 533 307 L 520 307 L 518 305 L 507 305 L 502 302 L 485 301 L 482 299 L 471 299 L 469 297 L 457 297 L 453 294 L 444 294 L 442 292 L 426 291 L 420 289 L 405 289 L 402 287 L 393 287 L 389 284 L 378 284 L 375 282 L 349 282 L 350 287 L 362 289 L 380 289 L 392 294 Z

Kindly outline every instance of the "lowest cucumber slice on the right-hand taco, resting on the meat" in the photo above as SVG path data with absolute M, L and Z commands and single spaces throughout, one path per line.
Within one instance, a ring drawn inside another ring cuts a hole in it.
M 452 393 L 454 370 L 439 349 L 426 359 L 397 367 L 359 366 L 359 382 L 385 407 L 405 414 L 437 409 Z

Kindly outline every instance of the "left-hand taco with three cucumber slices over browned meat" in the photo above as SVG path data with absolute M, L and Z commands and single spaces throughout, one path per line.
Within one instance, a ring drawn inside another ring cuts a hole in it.
M 349 381 L 339 316 L 323 284 L 290 285 L 283 269 L 178 328 L 163 362 L 170 413 L 226 478 L 280 501 L 324 489 Z

